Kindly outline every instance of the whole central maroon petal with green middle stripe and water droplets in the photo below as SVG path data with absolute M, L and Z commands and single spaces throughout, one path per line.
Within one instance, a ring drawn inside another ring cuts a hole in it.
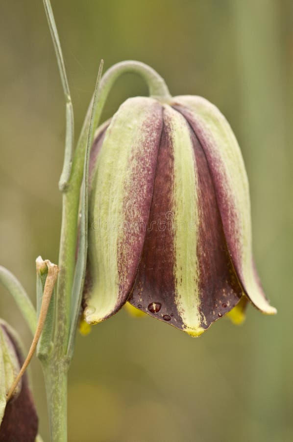
M 200 335 L 240 300 L 202 147 L 164 106 L 164 126 L 139 273 L 129 302 Z

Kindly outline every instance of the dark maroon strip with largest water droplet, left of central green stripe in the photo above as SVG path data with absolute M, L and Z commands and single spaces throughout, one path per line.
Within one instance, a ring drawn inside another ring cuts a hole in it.
M 175 312 L 173 324 L 181 328 L 175 304 L 173 175 L 174 156 L 170 133 L 163 125 L 158 151 L 150 214 L 138 275 L 129 302 L 157 319 Z M 157 307 L 156 307 L 157 306 Z

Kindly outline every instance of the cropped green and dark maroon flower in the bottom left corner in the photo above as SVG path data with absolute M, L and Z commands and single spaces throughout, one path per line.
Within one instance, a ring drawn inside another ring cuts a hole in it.
M 24 374 L 6 404 L 10 390 L 24 358 L 15 331 L 0 320 L 0 442 L 34 442 L 38 416 Z

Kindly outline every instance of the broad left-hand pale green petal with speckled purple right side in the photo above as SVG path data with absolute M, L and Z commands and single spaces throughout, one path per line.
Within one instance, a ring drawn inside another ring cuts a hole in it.
M 89 200 L 89 265 L 84 316 L 98 323 L 127 301 L 135 281 L 153 191 L 162 107 L 127 100 L 98 153 Z

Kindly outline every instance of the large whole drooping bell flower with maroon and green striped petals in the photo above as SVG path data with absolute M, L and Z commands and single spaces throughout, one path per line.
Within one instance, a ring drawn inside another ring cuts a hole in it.
M 197 96 L 128 99 L 91 152 L 86 322 L 128 300 L 198 336 L 247 299 L 276 312 L 255 270 L 248 181 L 228 122 Z

